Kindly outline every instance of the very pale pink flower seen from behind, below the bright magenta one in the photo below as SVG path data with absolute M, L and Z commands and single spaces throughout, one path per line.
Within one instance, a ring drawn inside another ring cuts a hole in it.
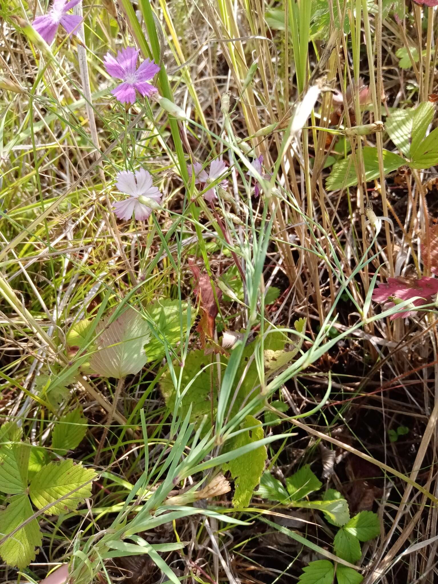
M 116 187 L 130 195 L 129 199 L 114 203 L 114 214 L 119 219 L 128 221 L 135 213 L 135 219 L 144 221 L 152 213 L 152 208 L 161 203 L 162 194 L 152 185 L 152 176 L 143 168 L 136 172 L 117 173 Z

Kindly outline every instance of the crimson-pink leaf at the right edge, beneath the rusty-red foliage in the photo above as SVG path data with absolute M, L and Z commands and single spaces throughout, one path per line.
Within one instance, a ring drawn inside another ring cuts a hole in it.
M 386 284 L 377 284 L 377 287 L 373 290 L 373 300 L 383 303 L 385 308 L 391 308 L 395 306 L 392 298 L 409 300 L 409 298 L 419 296 L 420 298 L 412 300 L 412 304 L 413 306 L 422 306 L 423 304 L 432 303 L 435 300 L 436 294 L 438 294 L 438 280 L 435 278 L 423 276 L 419 280 L 415 280 L 412 278 L 397 277 L 388 278 Z M 415 311 L 409 310 L 408 308 L 405 312 L 393 314 L 390 320 L 406 318 L 411 314 L 415 314 Z

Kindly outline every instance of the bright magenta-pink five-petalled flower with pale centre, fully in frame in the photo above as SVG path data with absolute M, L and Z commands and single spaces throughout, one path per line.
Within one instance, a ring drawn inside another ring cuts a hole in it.
M 126 47 L 119 51 L 116 57 L 107 53 L 103 59 L 106 71 L 113 77 L 123 81 L 111 92 L 121 103 L 134 103 L 135 90 L 143 97 L 150 97 L 152 93 L 157 92 L 157 88 L 148 83 L 148 81 L 158 73 L 160 68 L 155 65 L 154 61 L 145 59 L 137 69 L 139 53 L 140 49 L 135 50 L 133 47 Z

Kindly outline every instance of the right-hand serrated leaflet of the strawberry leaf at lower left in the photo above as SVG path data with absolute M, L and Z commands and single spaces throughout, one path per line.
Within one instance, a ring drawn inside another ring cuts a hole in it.
M 91 495 L 91 481 L 96 473 L 91 468 L 82 467 L 81 463 L 74 464 L 71 458 L 60 463 L 49 463 L 41 468 L 33 477 L 29 486 L 29 495 L 33 504 L 42 509 L 48 503 L 54 503 L 46 511 L 48 515 L 60 515 L 74 511 L 79 503 Z M 71 496 L 56 503 L 56 501 L 72 492 Z

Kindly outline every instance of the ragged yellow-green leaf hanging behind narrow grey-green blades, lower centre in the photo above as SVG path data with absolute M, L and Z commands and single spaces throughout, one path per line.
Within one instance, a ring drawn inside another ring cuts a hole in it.
M 256 427 L 253 427 L 256 426 Z M 227 451 L 237 450 L 246 444 L 257 442 L 265 437 L 262 423 L 256 420 L 254 416 L 246 416 L 242 428 L 252 428 L 247 432 L 238 434 L 227 444 Z M 251 503 L 254 489 L 260 482 L 263 471 L 265 470 L 265 460 L 267 457 L 266 446 L 259 446 L 251 450 L 244 456 L 238 456 L 229 463 L 223 465 L 223 471 L 230 471 L 234 479 L 234 496 L 232 504 L 234 507 L 248 507 Z

